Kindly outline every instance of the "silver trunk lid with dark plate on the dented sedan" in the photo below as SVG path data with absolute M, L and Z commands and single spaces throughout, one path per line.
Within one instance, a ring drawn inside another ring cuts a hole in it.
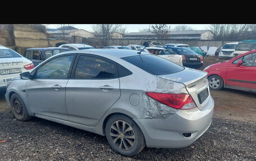
M 194 99 L 197 107 L 200 110 L 207 107 L 210 98 L 207 72 L 185 68 L 183 71 L 172 73 L 170 75 L 161 75 L 159 77 L 184 84 L 186 90 Z

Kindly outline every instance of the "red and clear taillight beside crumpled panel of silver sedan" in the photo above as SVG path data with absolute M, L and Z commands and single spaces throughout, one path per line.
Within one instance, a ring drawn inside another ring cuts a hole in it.
M 196 104 L 190 94 L 154 93 L 147 92 L 148 96 L 158 102 L 177 109 L 196 108 Z

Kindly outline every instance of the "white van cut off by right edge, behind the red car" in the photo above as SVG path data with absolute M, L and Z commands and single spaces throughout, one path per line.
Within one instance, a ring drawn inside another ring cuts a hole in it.
M 233 56 L 237 57 L 254 49 L 256 49 L 256 40 L 242 40 L 237 44 Z

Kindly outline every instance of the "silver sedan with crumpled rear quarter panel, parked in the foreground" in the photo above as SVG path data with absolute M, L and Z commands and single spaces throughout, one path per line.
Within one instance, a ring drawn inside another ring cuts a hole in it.
M 207 72 L 145 52 L 68 51 L 20 76 L 5 94 L 18 120 L 35 116 L 106 135 L 121 155 L 145 145 L 189 146 L 212 122 Z

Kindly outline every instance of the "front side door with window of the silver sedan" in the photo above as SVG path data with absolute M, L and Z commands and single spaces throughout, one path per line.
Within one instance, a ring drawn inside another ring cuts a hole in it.
M 65 86 L 74 56 L 62 56 L 40 66 L 35 78 L 28 80 L 26 95 L 31 112 L 43 116 L 68 120 Z

